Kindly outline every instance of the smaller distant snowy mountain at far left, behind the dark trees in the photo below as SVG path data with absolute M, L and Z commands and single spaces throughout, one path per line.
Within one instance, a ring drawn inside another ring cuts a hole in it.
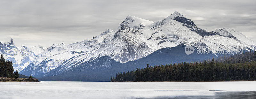
M 14 70 L 18 71 L 28 66 L 39 52 L 44 51 L 44 49 L 36 50 L 36 47 L 33 48 L 35 50 L 31 50 L 26 46 L 16 47 L 10 37 L 0 40 L 0 54 L 3 54 L 7 60 L 12 61 Z

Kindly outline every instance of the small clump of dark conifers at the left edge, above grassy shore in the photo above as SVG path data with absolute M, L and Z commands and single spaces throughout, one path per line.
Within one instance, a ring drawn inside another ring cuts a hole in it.
M 18 72 L 18 71 L 17 71 Z M 0 57 L 0 77 L 16 77 L 13 73 L 12 61 L 5 60 L 3 55 Z

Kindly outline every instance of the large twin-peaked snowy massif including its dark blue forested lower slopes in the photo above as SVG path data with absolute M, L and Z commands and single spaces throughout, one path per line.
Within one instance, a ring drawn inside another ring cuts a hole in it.
M 205 46 L 211 54 L 186 55 L 185 45 L 196 49 Z M 218 49 L 210 49 L 212 46 Z M 108 29 L 91 40 L 34 51 L 34 60 L 27 61 L 29 65 L 20 73 L 42 80 L 108 81 L 116 72 L 141 68 L 146 63 L 193 62 L 218 56 L 218 50 L 225 47 L 255 49 L 256 43 L 229 28 L 208 32 L 176 11 L 157 22 L 127 16 L 117 29 Z

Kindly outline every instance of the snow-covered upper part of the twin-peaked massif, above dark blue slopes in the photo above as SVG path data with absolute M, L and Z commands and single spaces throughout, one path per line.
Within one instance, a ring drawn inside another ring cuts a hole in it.
M 208 32 L 195 25 L 178 12 L 167 18 L 153 22 L 135 16 L 127 16 L 115 30 L 95 36 L 91 40 L 70 45 L 54 44 L 36 57 L 21 73 L 44 76 L 54 70 L 58 74 L 73 70 L 103 56 L 120 63 L 146 57 L 162 48 L 177 45 L 193 45 L 224 48 L 230 50 L 254 49 L 256 43 L 243 34 L 228 28 Z M 217 49 L 209 49 L 216 53 Z M 84 69 L 99 69 L 111 65 L 87 65 Z

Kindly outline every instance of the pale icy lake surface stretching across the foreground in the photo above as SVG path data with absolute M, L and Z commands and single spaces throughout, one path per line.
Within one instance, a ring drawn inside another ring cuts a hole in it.
M 2 98 L 256 98 L 256 82 L 0 82 L 0 99 Z

